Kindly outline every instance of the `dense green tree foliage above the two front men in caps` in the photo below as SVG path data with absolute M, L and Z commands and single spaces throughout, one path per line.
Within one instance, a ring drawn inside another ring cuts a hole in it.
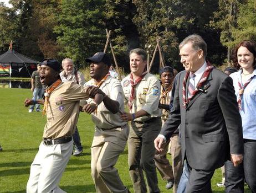
M 85 58 L 103 51 L 105 28 L 103 1 L 62 1 L 55 33 L 61 47 L 60 57 L 69 57 L 76 65 L 85 65 Z

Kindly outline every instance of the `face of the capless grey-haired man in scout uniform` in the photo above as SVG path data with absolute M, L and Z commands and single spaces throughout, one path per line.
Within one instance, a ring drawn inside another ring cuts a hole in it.
M 130 54 L 130 69 L 132 74 L 139 77 L 144 72 L 145 66 L 147 65 L 147 61 L 142 60 L 141 55 L 137 55 L 137 53 Z

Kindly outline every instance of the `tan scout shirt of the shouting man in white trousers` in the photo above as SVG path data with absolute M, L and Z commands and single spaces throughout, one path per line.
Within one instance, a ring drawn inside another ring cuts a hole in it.
M 85 89 L 74 82 L 60 83 L 49 96 L 43 138 L 71 136 L 79 115 L 79 100 L 88 99 Z

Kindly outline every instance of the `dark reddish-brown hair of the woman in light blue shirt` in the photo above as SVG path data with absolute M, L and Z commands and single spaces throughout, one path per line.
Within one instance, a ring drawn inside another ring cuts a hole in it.
M 249 52 L 253 53 L 253 56 L 254 56 L 253 67 L 256 68 L 256 44 L 255 44 L 255 42 L 250 41 L 250 40 L 243 40 L 243 41 L 239 42 L 239 44 L 237 44 L 234 47 L 233 52 L 232 52 L 232 61 L 233 61 L 234 67 L 237 69 L 240 68 L 240 65 L 237 60 L 237 51 L 238 51 L 239 47 L 241 47 L 241 46 L 246 47 L 249 50 Z

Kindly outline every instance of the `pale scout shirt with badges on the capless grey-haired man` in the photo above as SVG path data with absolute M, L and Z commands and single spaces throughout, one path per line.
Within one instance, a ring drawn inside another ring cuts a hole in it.
M 130 74 L 125 77 L 121 84 L 124 90 L 125 99 L 129 100 L 131 84 Z M 158 109 L 159 97 L 160 97 L 160 82 L 153 74 L 147 73 L 141 82 L 135 87 L 136 94 L 134 104 L 132 105 L 132 112 L 139 110 L 145 110 L 149 115 L 139 117 L 136 121 L 146 121 L 150 117 L 160 117 L 161 110 Z

